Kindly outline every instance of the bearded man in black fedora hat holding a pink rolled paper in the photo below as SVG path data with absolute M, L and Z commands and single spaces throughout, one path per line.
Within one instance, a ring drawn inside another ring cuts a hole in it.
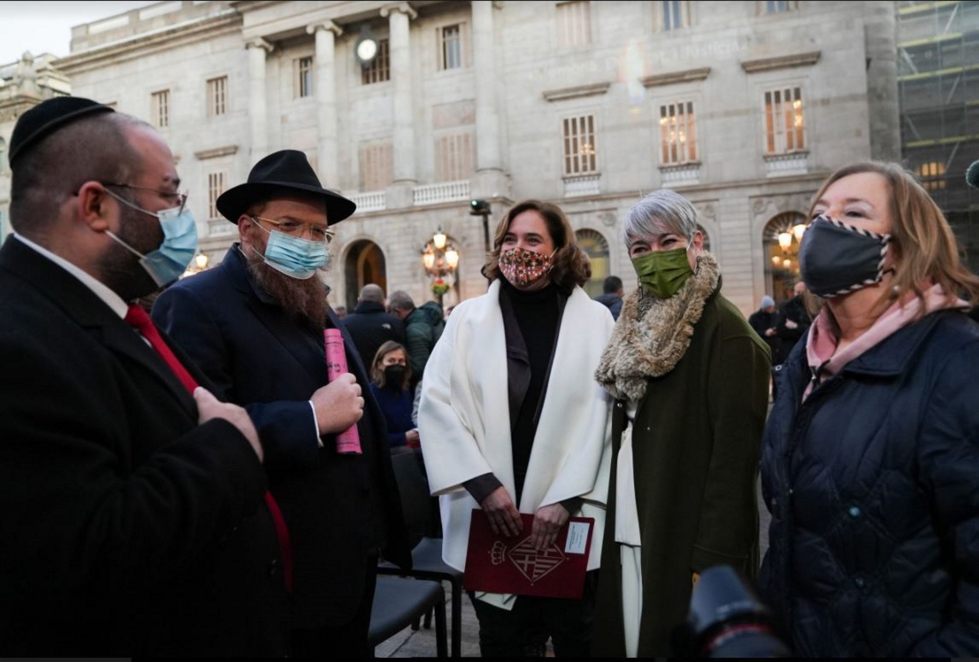
M 217 199 L 240 242 L 160 296 L 153 318 L 246 407 L 292 535 L 292 655 L 370 656 L 379 554 L 410 565 L 384 416 L 320 273 L 332 225 L 355 205 L 320 185 L 302 152 L 260 160 Z M 350 373 L 328 381 L 323 331 L 343 332 Z M 361 454 L 336 437 L 356 425 Z

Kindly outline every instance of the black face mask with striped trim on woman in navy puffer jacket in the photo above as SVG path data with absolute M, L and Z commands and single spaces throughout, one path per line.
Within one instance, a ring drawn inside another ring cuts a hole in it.
M 884 277 L 891 235 L 847 225 L 825 214 L 806 228 L 799 246 L 799 271 L 809 291 L 830 299 Z

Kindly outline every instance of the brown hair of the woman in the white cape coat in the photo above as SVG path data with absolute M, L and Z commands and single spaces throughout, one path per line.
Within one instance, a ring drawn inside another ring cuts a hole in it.
M 591 262 L 584 251 L 578 248 L 575 231 L 571 228 L 571 223 L 568 222 L 568 218 L 561 211 L 561 208 L 539 200 L 525 200 L 517 203 L 499 221 L 492 240 L 492 251 L 489 253 L 487 263 L 483 265 L 483 275 L 490 281 L 502 277 L 499 270 L 499 254 L 500 247 L 503 245 L 503 237 L 510 231 L 510 223 L 513 222 L 513 219 L 524 212 L 539 213 L 544 219 L 547 232 L 550 234 L 556 249 L 551 261 L 553 264 L 550 272 L 551 282 L 561 292 L 570 295 L 576 285 L 583 285 L 591 277 Z

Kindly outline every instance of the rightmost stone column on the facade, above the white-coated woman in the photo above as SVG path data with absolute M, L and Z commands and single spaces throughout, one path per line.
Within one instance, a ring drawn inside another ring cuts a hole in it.
M 493 0 L 473 0 L 473 74 L 476 80 L 476 178 L 474 198 L 508 196 L 496 109 L 496 49 Z

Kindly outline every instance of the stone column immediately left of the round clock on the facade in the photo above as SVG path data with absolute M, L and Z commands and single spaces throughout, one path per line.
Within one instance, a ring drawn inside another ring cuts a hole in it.
M 337 82 L 334 45 L 344 30 L 332 21 L 313 24 L 306 32 L 316 39 L 316 161 L 320 182 L 327 188 L 342 188 L 337 170 Z

